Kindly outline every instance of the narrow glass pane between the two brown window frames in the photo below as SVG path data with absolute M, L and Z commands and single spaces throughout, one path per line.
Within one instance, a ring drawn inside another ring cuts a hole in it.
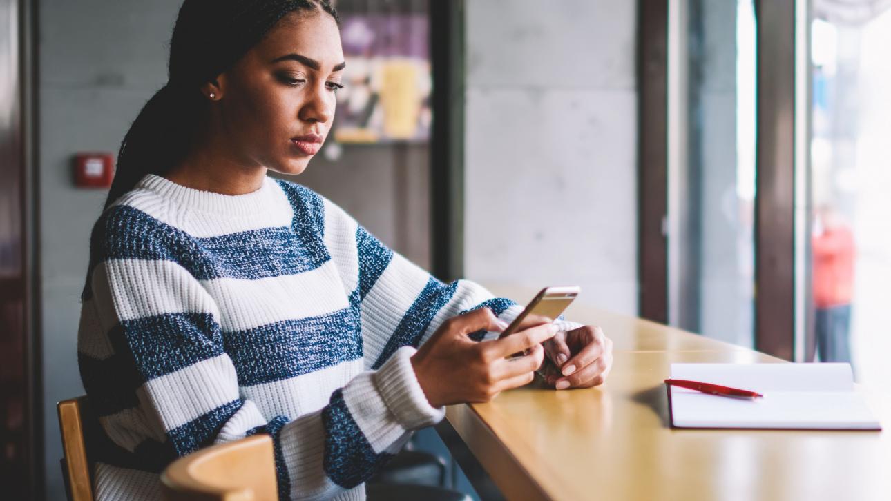
M 669 4 L 669 323 L 753 345 L 755 15 Z

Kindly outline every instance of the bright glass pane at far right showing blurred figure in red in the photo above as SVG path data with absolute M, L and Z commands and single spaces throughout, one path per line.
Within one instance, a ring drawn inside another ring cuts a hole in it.
M 855 4 L 813 4 L 808 270 L 812 343 L 806 356 L 809 361 L 852 362 L 858 381 L 887 386 L 891 11 L 887 3 Z

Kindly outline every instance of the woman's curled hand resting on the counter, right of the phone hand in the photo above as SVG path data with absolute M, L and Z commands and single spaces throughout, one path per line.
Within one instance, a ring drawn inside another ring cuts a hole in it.
M 612 340 L 601 327 L 584 326 L 559 332 L 544 343 L 548 359 L 542 376 L 558 390 L 603 384 L 612 368 Z

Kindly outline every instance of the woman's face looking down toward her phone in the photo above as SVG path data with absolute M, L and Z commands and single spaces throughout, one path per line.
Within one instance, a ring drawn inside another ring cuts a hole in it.
M 244 165 L 302 173 L 331 130 L 343 68 L 331 15 L 291 12 L 217 79 L 226 148 Z

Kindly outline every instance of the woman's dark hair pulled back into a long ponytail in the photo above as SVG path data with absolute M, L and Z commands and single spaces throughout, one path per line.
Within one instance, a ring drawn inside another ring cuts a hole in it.
M 120 143 L 105 208 L 145 174 L 165 174 L 185 158 L 209 103 L 200 86 L 232 68 L 290 12 L 328 12 L 328 0 L 185 0 L 170 39 L 168 83 L 145 103 Z

